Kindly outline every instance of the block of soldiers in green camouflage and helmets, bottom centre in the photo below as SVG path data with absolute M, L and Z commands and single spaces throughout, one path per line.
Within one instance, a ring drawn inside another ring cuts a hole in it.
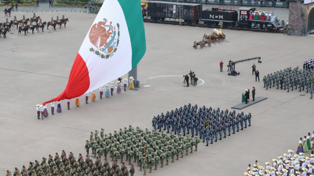
M 89 140 L 86 140 L 85 144 L 86 156 L 89 157 L 89 148 L 91 148 L 94 158 L 97 158 L 96 161 L 100 162 L 102 155 L 104 155 L 104 160 L 107 161 L 107 154 L 109 153 L 111 161 L 113 161 L 115 165 L 120 159 L 120 163 L 122 163 L 120 170 L 122 172 L 127 169 L 125 168 L 123 158 L 125 158 L 125 161 L 128 161 L 128 165 L 131 166 L 131 159 L 133 158 L 133 163 L 137 162 L 139 171 L 143 169 L 143 175 L 146 175 L 146 168 L 149 168 L 148 173 L 152 172 L 152 166 L 155 166 L 154 170 L 157 170 L 159 162 L 160 168 L 163 168 L 164 160 L 166 160 L 165 165 L 169 165 L 170 157 L 172 159 L 171 163 L 174 162 L 175 155 L 176 160 L 179 160 L 180 153 L 180 158 L 183 158 L 184 150 L 186 152 L 185 155 L 188 155 L 189 149 L 190 153 L 193 153 L 193 146 L 195 146 L 194 151 L 197 151 L 198 143 L 200 142 L 197 137 L 183 137 L 182 135 L 176 137 L 172 132 L 170 135 L 166 135 L 164 132 L 150 132 L 147 128 L 143 131 L 139 127 L 134 129 L 132 125 L 129 125 L 128 128 L 124 127 L 124 130 L 120 128 L 119 132 L 115 130 L 113 134 L 109 133 L 109 135 L 104 134 L 104 131 L 105 130 L 101 128 L 100 136 L 98 136 L 97 130 L 95 130 L 95 133 L 90 132 Z M 98 162 L 96 163 L 98 164 Z M 116 167 L 118 168 L 118 166 Z M 114 171 L 110 172 L 111 170 Z M 106 176 L 123 176 L 123 174 L 119 174 L 116 169 L 110 168 L 110 166 L 102 171 L 105 173 L 108 171 L 109 174 L 106 174 Z M 95 173 L 94 170 L 93 172 Z M 104 176 L 105 174 L 99 173 L 99 175 Z

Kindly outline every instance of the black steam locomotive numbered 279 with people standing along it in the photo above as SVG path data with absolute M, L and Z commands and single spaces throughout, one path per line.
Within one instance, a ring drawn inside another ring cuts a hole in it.
M 250 13 L 256 11 L 255 8 L 241 7 L 239 10 L 239 21 L 237 25 L 244 28 L 258 28 L 258 29 L 276 29 L 281 30 L 284 24 L 280 21 L 278 16 L 275 16 L 274 12 L 271 12 L 271 18 L 269 21 L 250 19 Z

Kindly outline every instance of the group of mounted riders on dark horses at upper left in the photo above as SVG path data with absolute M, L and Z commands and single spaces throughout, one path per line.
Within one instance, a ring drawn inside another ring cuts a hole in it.
M 62 15 L 62 19 L 59 19 L 59 17 L 57 16 L 56 20 L 54 20 L 51 17 L 51 20 L 48 22 L 46 21 L 42 22 L 41 17 L 40 16 L 36 17 L 35 13 L 32 18 L 25 18 L 25 16 L 23 15 L 23 18 L 21 20 L 17 20 L 16 16 L 14 16 L 13 20 L 9 21 L 7 18 L 5 23 L 0 23 L 0 28 L 1 28 L 0 38 L 1 38 L 1 34 L 3 35 L 3 38 L 6 38 L 6 34 L 7 32 L 11 31 L 11 27 L 15 28 L 16 26 L 16 29 L 18 29 L 18 34 L 22 34 L 22 32 L 24 32 L 24 35 L 26 35 L 27 33 L 29 33 L 28 30 L 32 30 L 33 34 L 34 34 L 35 29 L 37 32 L 39 32 L 40 30 L 44 32 L 45 26 L 47 26 L 47 30 L 49 26 L 52 26 L 53 29 L 56 30 L 57 25 L 59 25 L 61 29 L 62 24 L 64 24 L 64 28 L 65 28 L 65 25 L 67 24 L 68 21 L 69 19 L 64 18 L 64 15 Z

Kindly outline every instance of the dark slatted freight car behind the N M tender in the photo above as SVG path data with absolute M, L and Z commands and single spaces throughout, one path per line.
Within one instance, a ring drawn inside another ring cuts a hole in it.
M 165 18 L 182 18 L 184 23 L 198 23 L 202 18 L 202 4 L 163 3 L 150 1 L 147 16 L 150 20 L 163 21 Z M 174 13 L 175 12 L 175 13 Z

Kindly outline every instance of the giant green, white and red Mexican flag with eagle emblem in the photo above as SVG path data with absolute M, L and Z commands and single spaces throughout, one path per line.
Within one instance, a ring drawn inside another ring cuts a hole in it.
M 145 50 L 140 0 L 105 0 L 74 60 L 67 87 L 43 104 L 81 96 L 125 75 Z

